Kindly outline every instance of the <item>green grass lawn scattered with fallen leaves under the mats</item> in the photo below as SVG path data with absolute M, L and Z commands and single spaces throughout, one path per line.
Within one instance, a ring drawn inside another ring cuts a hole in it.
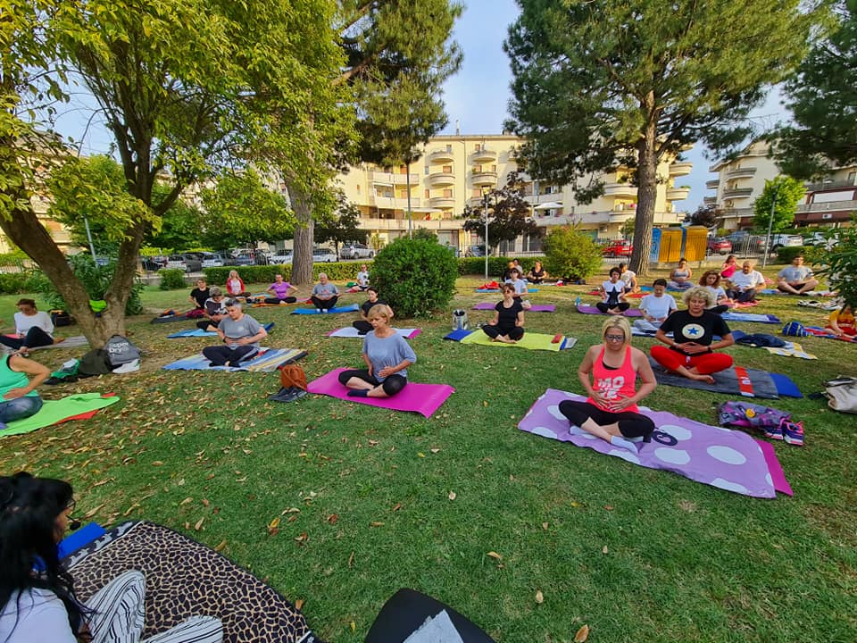
M 498 300 L 473 291 L 481 281 L 460 279 L 450 310 Z M 429 420 L 330 397 L 268 402 L 278 374 L 162 371 L 210 340 L 166 339 L 190 322 L 148 322 L 156 311 L 186 307 L 187 291 L 147 289 L 151 313 L 129 320 L 129 336 L 145 351 L 140 372 L 42 389 L 46 398 L 115 391 L 121 403 L 88 422 L 3 438 L 0 471 L 70 480 L 78 514 L 104 525 L 145 518 L 222 547 L 290 600 L 304 600 L 313 630 L 337 642 L 362 641 L 402 587 L 453 605 L 503 642 L 570 641 L 583 623 L 590 641 L 857 640 L 853 416 L 819 401 L 769 402 L 806 429 L 805 447 L 776 444 L 795 490 L 776 500 L 517 430 L 545 388 L 580 392 L 578 363 L 603 320 L 574 312 L 576 296 L 595 301 L 587 289 L 530 296 L 557 312 L 528 314 L 529 330 L 579 339 L 560 354 L 441 341 L 449 311 L 398 320 L 423 330 L 412 340 L 419 362 L 411 379 L 456 388 Z M 0 297 L 0 318 L 11 320 L 17 298 Z M 795 299 L 765 296 L 750 312 L 823 325 L 826 313 Z M 250 313 L 276 321 L 268 345 L 309 351 L 308 378 L 360 363 L 359 340 L 324 336 L 354 314 L 287 311 Z M 473 324 L 493 313 L 468 314 Z M 736 363 L 789 374 L 804 394 L 836 375 L 857 375 L 857 345 L 801 341 L 818 361 L 748 347 L 728 352 Z M 637 347 L 652 343 L 635 338 Z M 82 352 L 35 357 L 55 368 Z M 726 399 L 660 387 L 646 404 L 711 423 Z

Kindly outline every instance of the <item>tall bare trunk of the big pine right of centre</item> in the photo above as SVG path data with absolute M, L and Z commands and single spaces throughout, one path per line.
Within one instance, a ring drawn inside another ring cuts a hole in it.
M 637 143 L 637 217 L 634 222 L 634 252 L 631 254 L 630 269 L 637 277 L 645 277 L 649 270 L 649 255 L 652 252 L 652 230 L 654 205 L 658 196 L 658 159 L 655 154 L 657 145 L 656 119 L 652 105 L 643 108 L 649 119 Z

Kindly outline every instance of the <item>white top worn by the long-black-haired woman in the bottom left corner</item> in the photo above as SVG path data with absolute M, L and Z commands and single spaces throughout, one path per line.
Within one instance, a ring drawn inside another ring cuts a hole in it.
M 77 643 L 65 605 L 54 592 L 39 588 L 14 592 L 9 598 L 0 613 L 0 641 Z

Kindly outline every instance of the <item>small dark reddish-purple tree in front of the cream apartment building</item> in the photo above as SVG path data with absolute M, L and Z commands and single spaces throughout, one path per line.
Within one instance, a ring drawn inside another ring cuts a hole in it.
M 522 235 L 537 234 L 541 229 L 530 216 L 530 205 L 524 200 L 518 172 L 510 172 L 503 188 L 488 193 L 488 246 L 495 248 L 503 241 L 514 241 Z M 464 230 L 485 235 L 485 205 L 464 206 Z

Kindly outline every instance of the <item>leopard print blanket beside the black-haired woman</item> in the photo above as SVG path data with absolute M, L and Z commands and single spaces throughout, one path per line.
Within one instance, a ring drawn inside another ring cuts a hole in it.
M 83 601 L 122 572 L 143 572 L 144 639 L 189 616 L 210 615 L 223 623 L 224 641 L 320 643 L 304 615 L 262 580 L 154 522 L 123 522 L 64 562 Z

